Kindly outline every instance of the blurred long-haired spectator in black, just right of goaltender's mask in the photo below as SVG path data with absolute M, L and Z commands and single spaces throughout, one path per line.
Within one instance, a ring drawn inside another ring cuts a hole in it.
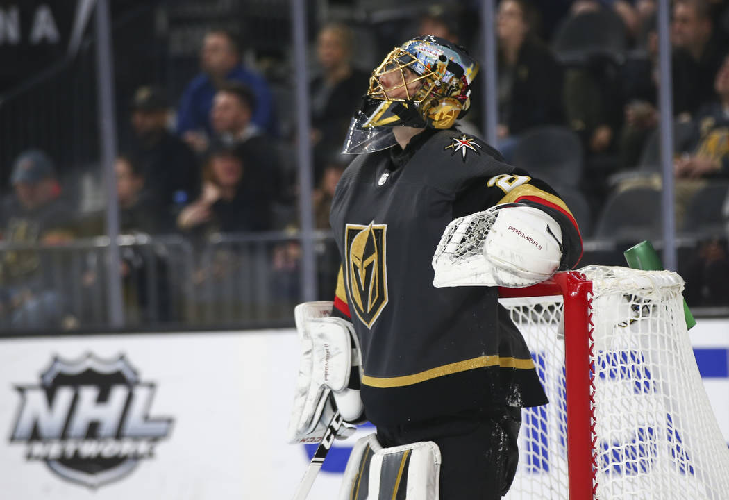
M 499 150 L 507 158 L 519 134 L 564 122 L 562 71 L 536 35 L 537 11 L 529 0 L 499 4 Z

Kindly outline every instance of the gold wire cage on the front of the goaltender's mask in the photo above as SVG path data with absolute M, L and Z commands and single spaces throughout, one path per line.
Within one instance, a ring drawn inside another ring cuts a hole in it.
M 408 60 L 408 62 L 402 63 L 402 60 Z M 400 47 L 394 48 L 382 61 L 380 66 L 372 72 L 372 76 L 370 77 L 370 88 L 367 90 L 367 95 L 371 98 L 381 99 L 382 101 L 423 102 L 424 99 L 432 92 L 434 87 L 437 86 L 437 83 L 440 82 L 440 76 L 432 71 L 432 69 L 425 66 L 426 71 L 424 74 L 418 74 L 417 71 L 411 69 L 411 66 L 414 66 L 416 63 L 420 63 L 420 61 L 414 58 L 409 52 L 402 50 Z M 380 82 L 380 78 L 384 74 L 392 73 L 394 71 L 399 73 L 399 83 L 385 89 Z M 410 74 L 412 74 L 415 78 L 408 79 Z M 413 93 L 413 95 L 410 95 L 408 85 L 414 82 L 422 83 L 418 86 L 418 89 Z M 402 87 L 405 87 L 405 97 L 393 98 L 389 95 L 389 93 L 392 93 L 393 90 L 397 90 Z

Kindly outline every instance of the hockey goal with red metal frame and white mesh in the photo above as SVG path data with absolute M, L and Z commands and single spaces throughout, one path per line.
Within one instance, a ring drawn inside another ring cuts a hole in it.
M 729 499 L 682 289 L 668 271 L 601 266 L 502 289 L 550 399 L 523 411 L 507 499 Z

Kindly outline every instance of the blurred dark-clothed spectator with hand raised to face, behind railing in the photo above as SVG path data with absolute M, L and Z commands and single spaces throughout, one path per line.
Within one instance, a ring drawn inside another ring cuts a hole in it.
M 180 212 L 177 226 L 202 237 L 268 230 L 270 203 L 265 193 L 249 181 L 238 152 L 221 146 L 208 156 L 200 198 Z

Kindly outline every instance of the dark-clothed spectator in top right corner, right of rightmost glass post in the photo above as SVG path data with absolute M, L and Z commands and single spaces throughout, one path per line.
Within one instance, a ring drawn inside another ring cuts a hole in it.
M 674 47 L 685 50 L 695 64 L 692 70 L 698 79 L 695 102 L 691 111 L 714 98 L 714 77 L 722 64 L 720 42 L 714 33 L 712 9 L 708 0 L 676 0 L 674 2 L 671 39 Z

